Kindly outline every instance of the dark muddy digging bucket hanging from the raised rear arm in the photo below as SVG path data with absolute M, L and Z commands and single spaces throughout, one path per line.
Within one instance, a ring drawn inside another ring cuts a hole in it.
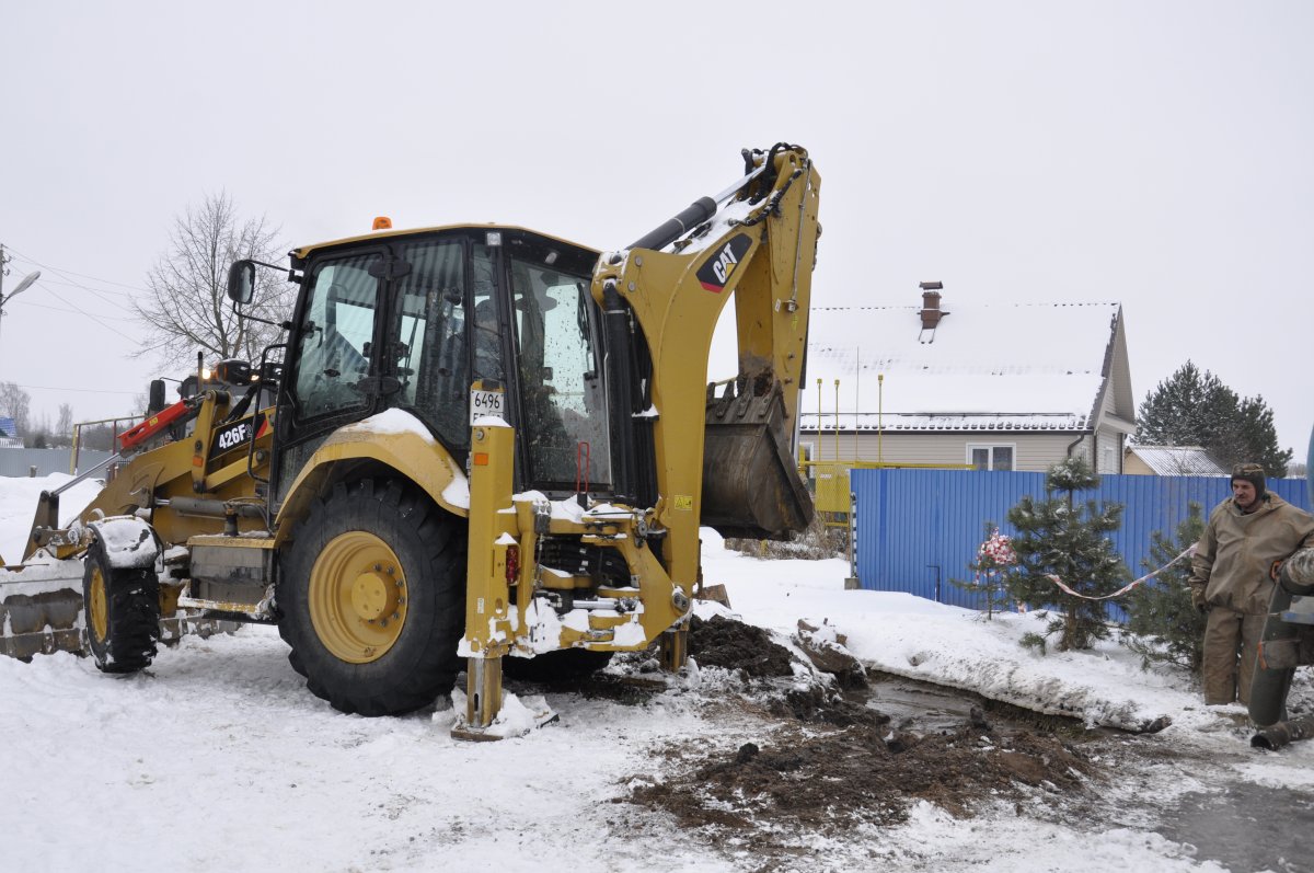
M 740 380 L 746 381 L 746 380 Z M 799 477 L 784 422 L 781 383 L 754 393 L 729 383 L 707 389 L 703 523 L 723 536 L 784 539 L 812 522 L 812 496 Z

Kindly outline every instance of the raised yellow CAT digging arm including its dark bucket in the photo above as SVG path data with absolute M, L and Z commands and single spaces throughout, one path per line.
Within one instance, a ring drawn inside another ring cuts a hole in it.
M 657 522 L 670 531 L 666 557 L 681 582 L 698 572 L 700 523 L 782 536 L 812 514 L 792 450 L 820 176 L 796 146 L 745 153 L 745 160 L 736 185 L 604 255 L 593 280 L 619 413 L 616 490 L 639 502 L 660 496 Z M 714 396 L 707 362 L 732 295 L 738 376 Z M 706 436 L 696 426 L 704 421 Z M 649 439 L 654 469 L 645 473 Z

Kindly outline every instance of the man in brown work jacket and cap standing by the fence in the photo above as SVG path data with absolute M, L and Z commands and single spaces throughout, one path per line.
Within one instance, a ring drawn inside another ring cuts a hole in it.
M 1205 621 L 1205 703 L 1250 703 L 1273 567 L 1314 547 L 1314 517 L 1264 486 L 1264 468 L 1238 464 L 1233 496 L 1209 514 L 1190 560 L 1190 600 Z M 1238 648 L 1240 672 L 1238 673 Z

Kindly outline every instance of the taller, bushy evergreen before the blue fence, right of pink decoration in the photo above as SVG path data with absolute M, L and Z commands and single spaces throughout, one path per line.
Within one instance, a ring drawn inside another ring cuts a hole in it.
M 1056 634 L 1056 648 L 1063 652 L 1089 648 L 1109 635 L 1104 601 L 1072 597 L 1049 578 L 1058 576 L 1087 597 L 1112 594 L 1127 580 L 1122 557 L 1106 536 L 1122 523 L 1122 506 L 1095 501 L 1077 505 L 1074 498 L 1076 492 L 1099 484 L 1100 477 L 1084 459 L 1070 458 L 1050 468 L 1045 500 L 1026 496 L 1008 510 L 1008 521 L 1018 531 L 1012 542 L 1017 564 L 1005 573 L 1004 585 L 1013 600 L 1031 609 L 1054 606 L 1058 611 L 1046 634 L 1028 634 L 1024 646 L 1043 651 Z

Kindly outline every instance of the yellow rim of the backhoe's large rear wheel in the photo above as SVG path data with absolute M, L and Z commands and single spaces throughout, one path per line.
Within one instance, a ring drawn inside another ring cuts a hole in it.
M 365 531 L 332 538 L 310 571 L 310 623 L 351 664 L 382 657 L 406 625 L 406 577 L 388 543 Z

